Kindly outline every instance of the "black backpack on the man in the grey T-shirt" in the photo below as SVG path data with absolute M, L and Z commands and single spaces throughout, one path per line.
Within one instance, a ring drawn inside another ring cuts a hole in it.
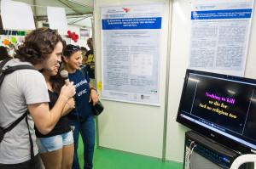
M 6 66 L 6 69 L 3 70 L 3 66 L 9 61 L 10 59 L 4 59 L 2 62 L 0 62 L 0 87 L 1 84 L 3 82 L 4 76 L 14 72 L 15 70 L 24 70 L 24 69 L 30 69 L 30 70 L 36 70 L 32 65 L 15 65 L 15 66 Z M 28 127 L 28 122 L 27 122 L 27 114 L 28 111 L 26 111 L 26 113 L 24 113 L 24 115 L 22 115 L 19 119 L 17 119 L 13 124 L 11 124 L 9 127 L 7 128 L 3 128 L 0 127 L 0 144 L 3 140 L 3 136 L 6 132 L 11 131 L 15 126 L 17 126 L 20 121 L 22 119 L 24 119 L 24 117 L 26 117 L 26 125 L 28 128 L 28 133 L 29 133 L 29 142 L 30 142 L 30 154 L 31 154 L 31 166 L 34 166 L 34 150 L 33 150 L 33 144 L 32 144 L 32 137 L 31 137 L 31 133 L 29 131 L 29 127 Z

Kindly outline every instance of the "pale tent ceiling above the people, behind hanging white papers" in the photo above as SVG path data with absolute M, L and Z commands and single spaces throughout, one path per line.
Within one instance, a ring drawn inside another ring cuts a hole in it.
M 68 25 L 91 27 L 93 0 L 13 0 L 31 6 L 35 20 L 47 22 L 47 7 L 65 8 Z M 1 1 L 0 1 L 1 2 Z

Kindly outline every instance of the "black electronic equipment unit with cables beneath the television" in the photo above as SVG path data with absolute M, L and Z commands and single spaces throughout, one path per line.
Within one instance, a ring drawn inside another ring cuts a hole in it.
M 238 156 L 236 152 L 196 132 L 185 134 L 184 169 L 228 169 Z M 245 168 L 241 166 L 239 169 Z

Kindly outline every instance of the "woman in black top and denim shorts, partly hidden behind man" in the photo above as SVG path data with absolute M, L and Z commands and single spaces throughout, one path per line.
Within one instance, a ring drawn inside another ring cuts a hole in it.
M 65 85 L 58 71 L 60 65 L 55 65 L 55 70 L 44 70 L 48 93 L 49 109 L 52 109 L 61 93 L 61 87 Z M 35 127 L 39 155 L 44 163 L 45 169 L 69 169 L 73 163 L 73 133 L 67 120 L 67 113 L 74 109 L 74 99 L 68 99 L 60 120 L 54 129 L 44 135 Z

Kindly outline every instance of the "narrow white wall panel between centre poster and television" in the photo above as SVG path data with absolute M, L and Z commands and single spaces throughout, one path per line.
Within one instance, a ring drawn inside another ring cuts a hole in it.
M 171 61 L 166 136 L 166 159 L 171 161 L 183 161 L 184 132 L 186 128 L 177 124 L 176 115 L 189 59 L 190 2 L 189 0 L 174 0 L 172 2 Z

